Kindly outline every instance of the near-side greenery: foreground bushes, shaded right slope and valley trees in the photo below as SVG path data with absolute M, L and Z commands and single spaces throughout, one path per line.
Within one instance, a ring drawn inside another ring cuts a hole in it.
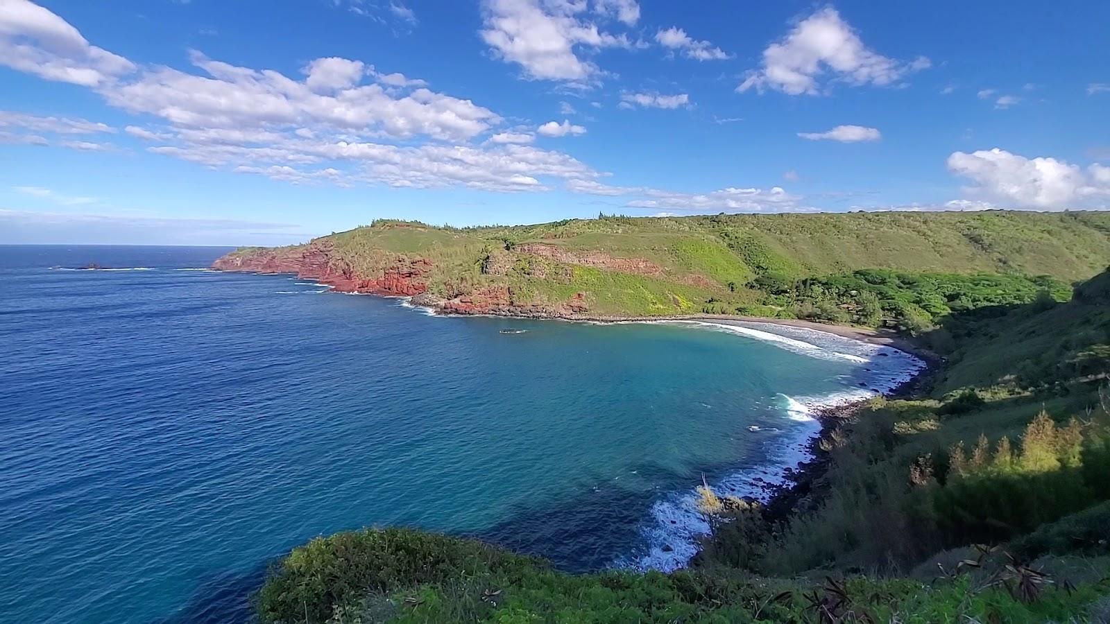
M 261 620 L 1108 621 L 1110 271 L 1069 301 L 1033 280 L 1026 292 L 1047 295 L 1031 303 L 1009 275 L 820 283 L 850 293 L 856 280 L 882 286 L 884 309 L 939 296 L 948 311 L 919 340 L 946 364 L 915 396 L 830 429 L 825 469 L 786 513 L 705 490 L 715 531 L 694 568 L 567 575 L 476 542 L 369 530 L 294 550 L 259 594 Z

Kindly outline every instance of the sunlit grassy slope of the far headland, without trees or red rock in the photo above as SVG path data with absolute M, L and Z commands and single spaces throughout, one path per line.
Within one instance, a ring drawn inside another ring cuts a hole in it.
M 597 315 L 712 310 L 793 316 L 791 304 L 768 299 L 757 278 L 790 282 L 882 268 L 1086 279 L 1110 258 L 1110 214 L 608 217 L 461 230 L 381 221 L 324 239 L 334 243 L 341 259 L 366 274 L 381 271 L 398 254 L 423 256 L 435 265 L 430 276 L 432 293 L 445 298 L 481 286 L 509 285 L 521 303 L 555 304 L 583 292 Z M 660 271 L 619 272 L 512 251 L 514 244 L 529 242 L 579 255 L 601 252 L 645 260 Z M 484 274 L 482 263 L 491 254 L 504 256 L 509 269 Z M 529 272 L 528 262 L 546 270 L 538 275 Z

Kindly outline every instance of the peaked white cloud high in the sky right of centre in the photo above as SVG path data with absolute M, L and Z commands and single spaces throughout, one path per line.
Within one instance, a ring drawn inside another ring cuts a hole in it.
M 818 79 L 831 72 L 849 84 L 894 84 L 912 71 L 926 69 L 929 59 L 910 62 L 888 59 L 868 49 L 831 7 L 820 9 L 795 26 L 785 38 L 764 50 L 763 67 L 748 72 L 737 91 L 775 89 L 791 95 L 821 92 Z

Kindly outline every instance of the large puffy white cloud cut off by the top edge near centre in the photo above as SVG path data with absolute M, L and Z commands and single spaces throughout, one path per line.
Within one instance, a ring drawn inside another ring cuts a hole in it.
M 585 0 L 483 0 L 480 34 L 494 56 L 523 67 L 526 78 L 584 85 L 604 72 L 579 58 L 576 48 L 633 47 L 626 34 L 603 32 L 596 23 L 583 19 L 586 4 Z M 595 12 L 615 4 L 595 3 Z

